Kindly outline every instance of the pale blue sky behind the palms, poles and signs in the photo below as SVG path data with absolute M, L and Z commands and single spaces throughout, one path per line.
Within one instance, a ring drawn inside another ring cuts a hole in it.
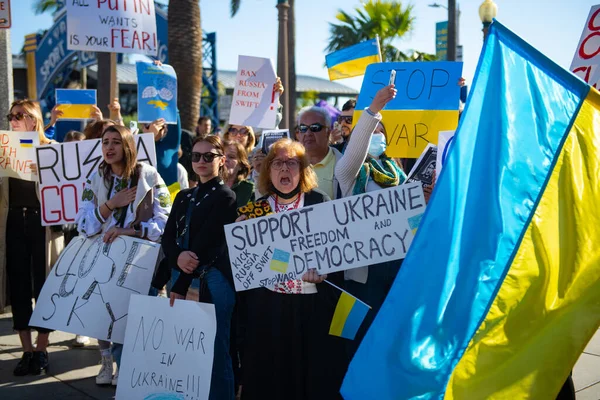
M 463 75 L 471 82 L 482 45 L 479 5 L 483 0 L 459 1 L 460 42 L 463 45 Z M 495 0 L 498 20 L 559 65 L 568 68 L 590 8 L 598 0 Z M 446 5 L 446 0 L 437 2 Z M 238 55 L 277 57 L 276 0 L 244 0 L 238 15 L 229 17 L 229 1 L 202 0 L 202 27 L 217 32 L 217 66 L 237 69 Z M 415 29 L 395 44 L 402 50 L 435 53 L 435 23 L 447 19 L 446 10 L 431 8 L 432 0 L 403 2 L 414 6 Z M 32 0 L 13 0 L 13 53 L 24 36 L 52 24 L 50 15 L 35 16 Z M 296 0 L 296 70 L 303 75 L 327 78 L 323 67 L 329 37 L 329 22 L 337 10 L 351 11 L 356 0 Z M 361 78 L 338 81 L 359 89 Z

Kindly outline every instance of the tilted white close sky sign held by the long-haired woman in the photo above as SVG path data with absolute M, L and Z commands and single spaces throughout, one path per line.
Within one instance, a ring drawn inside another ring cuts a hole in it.
M 32 326 L 123 343 L 132 294 L 148 294 L 160 244 L 75 237 L 44 282 Z

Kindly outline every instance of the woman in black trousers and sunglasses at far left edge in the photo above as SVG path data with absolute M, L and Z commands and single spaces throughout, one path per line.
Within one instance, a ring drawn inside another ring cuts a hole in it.
M 13 132 L 37 132 L 41 145 L 50 143 L 44 135 L 42 111 L 37 102 L 15 101 L 7 119 Z M 63 236 L 62 231 L 42 226 L 36 182 L 0 178 L 0 232 L 3 236 L 0 238 L 0 288 L 8 279 L 13 328 L 19 333 L 23 347 L 23 356 L 13 373 L 39 375 L 48 368 L 46 347 L 51 331 L 29 326 L 33 313 L 31 299 L 37 300 L 46 275 L 62 250 Z M 0 291 L 0 309 L 7 305 L 5 293 L 5 290 Z M 32 329 L 38 332 L 35 347 L 31 340 Z

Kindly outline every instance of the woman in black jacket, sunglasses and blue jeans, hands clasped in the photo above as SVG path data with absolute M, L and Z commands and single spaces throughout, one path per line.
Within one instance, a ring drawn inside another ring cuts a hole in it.
M 175 270 L 171 305 L 185 298 L 194 278 L 200 278 L 201 296 L 203 287 L 208 289 L 217 316 L 209 399 L 233 400 L 229 346 L 235 291 L 223 227 L 235 221 L 236 201 L 235 194 L 223 183 L 225 153 L 221 139 L 197 138 L 192 165 L 200 181 L 196 188 L 182 190 L 175 198 L 162 238 L 167 261 L 162 263 L 152 286 L 163 287 Z

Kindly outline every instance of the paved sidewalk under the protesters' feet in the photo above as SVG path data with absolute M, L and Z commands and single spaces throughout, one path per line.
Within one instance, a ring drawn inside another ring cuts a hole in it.
M 21 358 L 19 337 L 12 331 L 10 314 L 0 314 L 0 399 L 113 399 L 114 387 L 100 387 L 95 377 L 100 366 L 98 343 L 72 348 L 75 335 L 50 335 L 50 370 L 46 376 L 14 377 Z M 549 351 L 551 351 L 549 349 Z M 600 399 L 600 332 L 592 338 L 573 371 L 577 400 Z

